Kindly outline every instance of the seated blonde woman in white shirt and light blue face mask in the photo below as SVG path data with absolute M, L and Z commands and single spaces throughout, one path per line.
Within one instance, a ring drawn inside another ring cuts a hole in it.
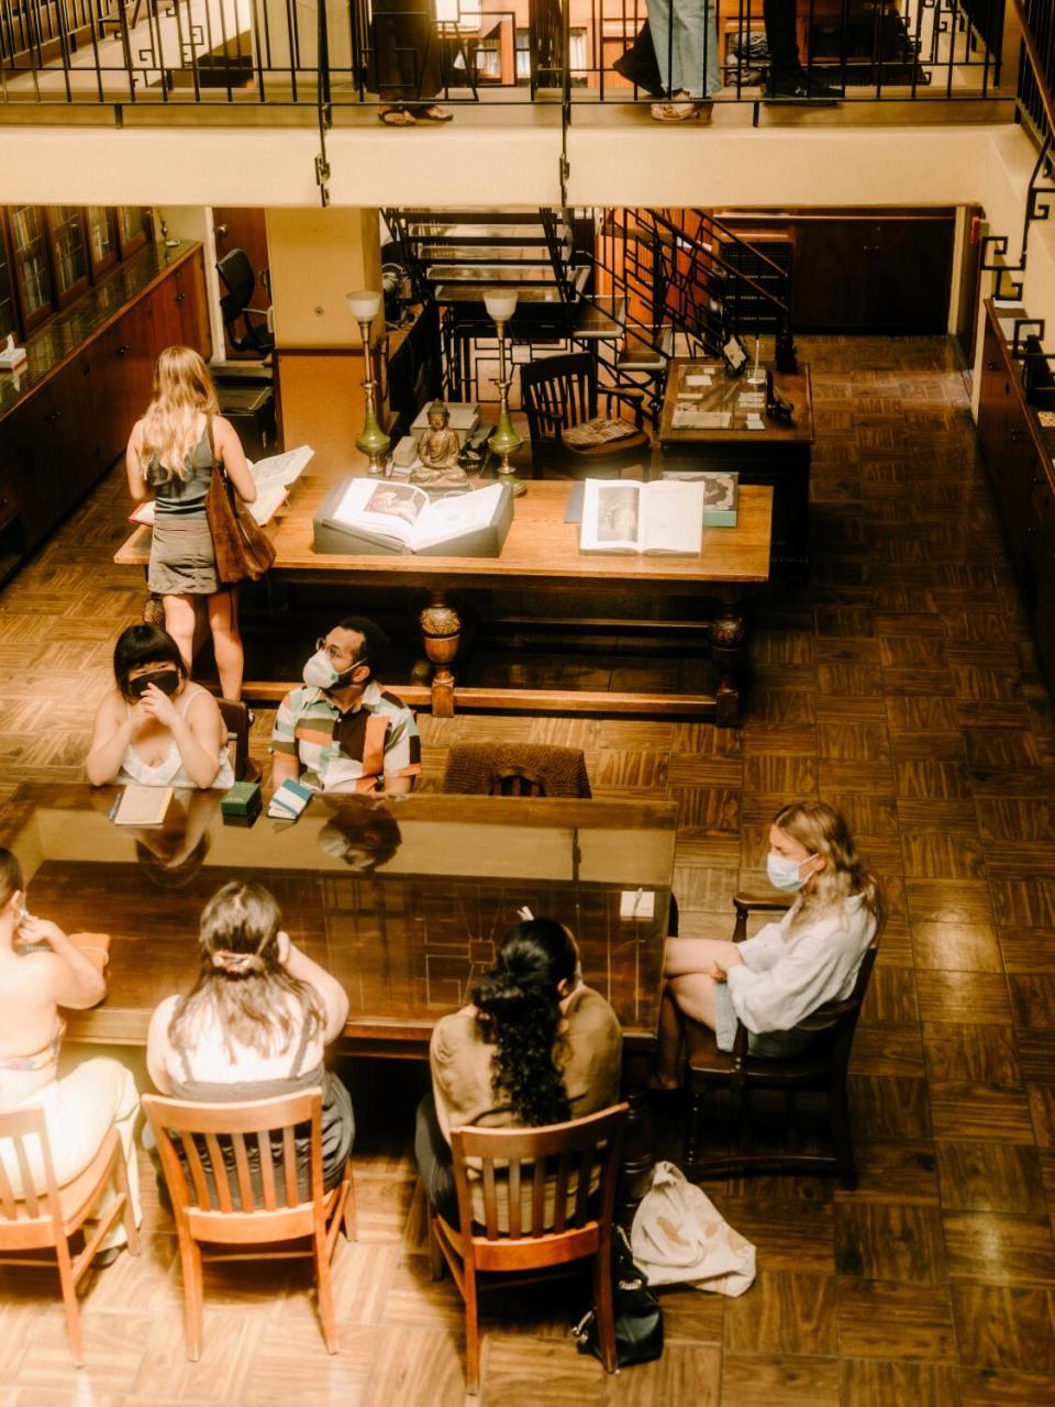
M 709 1026 L 719 1050 L 733 1048 L 743 1021 L 751 1054 L 792 1055 L 809 1044 L 793 1027 L 854 989 L 882 919 L 882 898 L 844 817 L 824 802 L 785 806 L 769 827 L 767 871 L 774 888 L 798 895 L 779 923 L 744 943 L 667 943 L 660 1089 L 678 1085 L 682 1016 Z

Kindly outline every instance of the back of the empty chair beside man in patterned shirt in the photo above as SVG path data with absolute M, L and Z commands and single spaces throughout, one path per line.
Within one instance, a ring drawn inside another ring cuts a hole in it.
M 453 743 L 440 791 L 463 796 L 592 795 L 582 749 L 550 743 Z

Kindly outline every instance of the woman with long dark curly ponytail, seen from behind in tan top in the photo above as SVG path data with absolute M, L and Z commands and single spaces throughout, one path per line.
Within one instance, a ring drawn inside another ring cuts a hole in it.
M 557 1124 L 619 1099 L 619 1019 L 584 985 L 563 923 L 518 923 L 471 996 L 432 1033 L 432 1095 L 415 1135 L 426 1196 L 454 1224 L 452 1128 Z

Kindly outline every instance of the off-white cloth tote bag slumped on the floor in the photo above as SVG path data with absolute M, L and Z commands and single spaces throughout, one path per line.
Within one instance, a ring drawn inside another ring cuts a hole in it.
M 754 1282 L 754 1247 L 672 1162 L 657 1162 L 634 1214 L 634 1262 L 648 1285 L 695 1285 L 737 1296 Z

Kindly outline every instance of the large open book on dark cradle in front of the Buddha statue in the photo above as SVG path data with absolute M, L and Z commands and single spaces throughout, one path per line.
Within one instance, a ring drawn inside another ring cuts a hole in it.
M 497 523 L 505 498 L 502 484 L 430 499 L 414 484 L 349 478 L 326 522 L 392 552 L 426 552 L 450 543 L 457 554 L 456 543 Z

